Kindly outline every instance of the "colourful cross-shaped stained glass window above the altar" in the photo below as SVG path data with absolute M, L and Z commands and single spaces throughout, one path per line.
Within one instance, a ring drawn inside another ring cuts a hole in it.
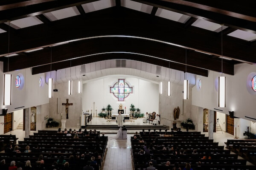
M 125 98 L 132 93 L 132 88 L 125 82 L 125 79 L 118 79 L 118 82 L 110 87 L 110 93 L 113 93 L 118 101 L 125 101 Z

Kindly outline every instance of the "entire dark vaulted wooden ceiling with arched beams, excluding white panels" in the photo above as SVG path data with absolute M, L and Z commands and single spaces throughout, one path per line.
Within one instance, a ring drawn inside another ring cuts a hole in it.
M 0 34 L 0 59 L 4 62 L 4 71 L 8 71 L 8 60 L 9 71 L 32 67 L 32 74 L 38 74 L 50 69 L 68 68 L 70 60 L 71 65 L 76 66 L 106 59 L 132 59 L 180 71 L 185 71 L 187 65 L 187 72 L 207 76 L 208 70 L 221 72 L 221 37 L 223 57 L 231 59 L 223 59 L 223 73 L 233 75 L 234 64 L 237 63 L 256 63 L 254 39 L 242 40 L 236 35 L 228 35 L 235 34 L 236 30 L 256 34 L 255 2 L 130 2 L 152 7 L 151 11 L 143 12 L 143 7 L 136 11 L 122 5 L 128 4 L 128 0 L 108 0 L 114 2 L 112 7 L 85 12 L 84 4 L 96 1 L 104 3 L 107 0 L 1 1 L 0 29 L 3 33 Z M 54 21 L 45 15 L 68 7 L 76 7 L 79 15 Z M 160 8 L 185 14 L 189 19 L 180 23 L 159 17 Z M 32 16 L 42 24 L 25 28 L 8 26 L 9 20 Z M 194 26 L 198 20 L 226 27 L 222 32 L 209 31 Z M 42 49 L 25 52 L 39 48 Z M 10 54 L 17 55 L 8 57 Z

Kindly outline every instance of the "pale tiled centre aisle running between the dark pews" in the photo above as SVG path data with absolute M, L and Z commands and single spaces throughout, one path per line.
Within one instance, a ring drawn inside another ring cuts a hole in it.
M 109 137 L 115 136 L 108 134 Z M 127 139 L 110 139 L 103 170 L 132 170 L 131 135 Z

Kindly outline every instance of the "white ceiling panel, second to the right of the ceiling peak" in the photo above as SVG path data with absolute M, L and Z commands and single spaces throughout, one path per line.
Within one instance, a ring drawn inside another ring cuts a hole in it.
M 190 18 L 188 15 L 180 14 L 162 8 L 157 9 L 156 16 L 166 18 L 168 20 L 173 20 L 179 23 L 186 23 L 186 21 Z

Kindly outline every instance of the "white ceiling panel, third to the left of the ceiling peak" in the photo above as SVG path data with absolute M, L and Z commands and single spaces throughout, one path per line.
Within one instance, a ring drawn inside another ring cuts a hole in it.
M 37 17 L 26 17 L 26 18 L 21 18 L 19 20 L 14 20 L 11 21 L 10 26 L 15 29 L 19 28 L 26 28 L 30 26 L 36 26 L 39 24 L 42 24 L 43 22 L 39 20 Z M 9 25 L 9 23 L 6 23 Z

